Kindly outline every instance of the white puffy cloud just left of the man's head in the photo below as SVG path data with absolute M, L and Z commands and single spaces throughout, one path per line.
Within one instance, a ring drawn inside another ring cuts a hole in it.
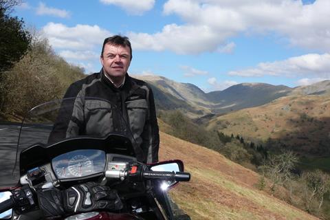
M 43 27 L 43 33 L 49 39 L 54 48 L 90 50 L 98 47 L 101 51 L 102 42 L 111 33 L 98 25 L 76 25 L 67 27 L 62 23 L 47 23 Z

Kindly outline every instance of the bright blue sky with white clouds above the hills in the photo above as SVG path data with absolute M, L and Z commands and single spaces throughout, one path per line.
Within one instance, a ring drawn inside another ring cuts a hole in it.
M 14 15 L 86 74 L 100 71 L 104 39 L 121 34 L 129 74 L 206 92 L 330 79 L 330 0 L 25 0 Z

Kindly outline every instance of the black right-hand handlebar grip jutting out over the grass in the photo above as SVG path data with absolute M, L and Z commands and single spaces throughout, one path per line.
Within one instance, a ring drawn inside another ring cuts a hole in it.
M 142 177 L 144 179 L 174 179 L 175 181 L 189 181 L 190 173 L 148 170 L 143 172 Z

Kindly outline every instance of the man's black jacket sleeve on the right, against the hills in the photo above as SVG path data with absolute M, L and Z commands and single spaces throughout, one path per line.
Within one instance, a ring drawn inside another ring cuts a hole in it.
M 142 145 L 144 149 L 148 151 L 146 163 L 158 162 L 159 151 L 159 129 L 157 124 L 157 116 L 155 109 L 155 99 L 153 97 L 153 91 L 149 88 L 148 93 L 148 117 L 144 124 L 144 131 L 142 133 Z

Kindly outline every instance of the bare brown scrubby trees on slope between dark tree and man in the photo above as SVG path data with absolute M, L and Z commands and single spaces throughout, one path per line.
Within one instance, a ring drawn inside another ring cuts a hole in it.
M 28 53 L 5 74 L 2 111 L 22 116 L 37 104 L 62 98 L 67 87 L 83 77 L 83 69 L 56 55 L 47 39 L 36 37 Z

